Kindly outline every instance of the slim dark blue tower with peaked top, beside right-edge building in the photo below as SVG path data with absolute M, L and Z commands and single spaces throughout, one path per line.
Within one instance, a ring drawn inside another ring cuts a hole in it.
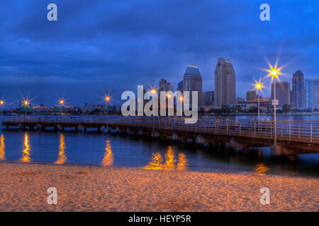
M 305 83 L 301 70 L 293 73 L 291 107 L 305 107 Z

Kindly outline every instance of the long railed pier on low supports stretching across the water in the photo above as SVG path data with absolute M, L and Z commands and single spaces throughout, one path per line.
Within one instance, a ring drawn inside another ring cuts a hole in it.
M 319 153 L 318 121 L 276 121 L 276 145 L 274 145 L 274 121 L 246 119 L 198 119 L 196 124 L 185 124 L 175 117 L 4 117 L 6 129 L 55 129 L 74 128 L 86 132 L 97 131 L 150 136 L 198 145 L 227 145 L 230 148 L 248 150 L 253 147 L 271 147 L 274 155 Z

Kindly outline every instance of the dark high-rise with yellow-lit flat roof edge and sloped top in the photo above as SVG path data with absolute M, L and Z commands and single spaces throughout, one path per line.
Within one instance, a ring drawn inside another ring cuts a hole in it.
M 189 105 L 192 103 L 192 91 L 198 91 L 198 107 L 201 106 L 202 78 L 197 66 L 187 65 L 184 73 L 183 91 L 189 91 Z

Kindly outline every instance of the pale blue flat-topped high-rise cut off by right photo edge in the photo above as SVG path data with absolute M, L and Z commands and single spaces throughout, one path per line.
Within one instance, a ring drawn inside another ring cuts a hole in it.
M 319 78 L 305 80 L 306 108 L 319 109 Z

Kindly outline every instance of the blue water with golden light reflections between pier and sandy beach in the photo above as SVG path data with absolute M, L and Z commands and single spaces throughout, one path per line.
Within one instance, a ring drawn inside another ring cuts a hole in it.
M 196 148 L 189 144 L 92 132 L 2 131 L 0 134 L 0 160 L 8 162 L 319 176 L 319 154 L 301 155 L 293 163 L 272 157 L 269 148 L 252 148 L 243 153 L 224 147 Z

